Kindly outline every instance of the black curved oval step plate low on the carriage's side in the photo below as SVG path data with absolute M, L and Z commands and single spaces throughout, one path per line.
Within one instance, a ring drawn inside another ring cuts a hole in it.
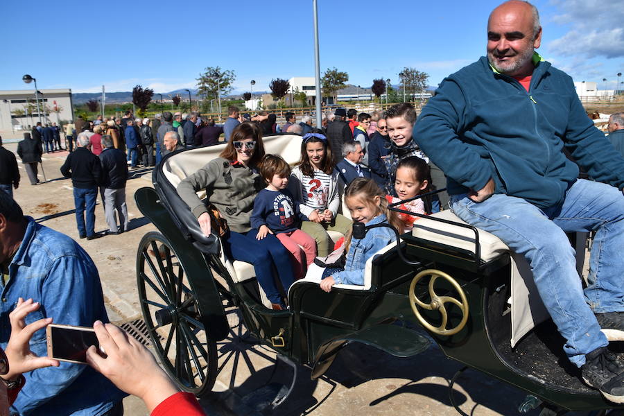
M 349 342 L 376 347 L 396 357 L 410 357 L 424 352 L 431 344 L 420 333 L 393 324 L 380 324 L 352 333 Z

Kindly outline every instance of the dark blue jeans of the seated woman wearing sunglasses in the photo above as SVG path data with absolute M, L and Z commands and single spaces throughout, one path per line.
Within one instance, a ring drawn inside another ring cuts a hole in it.
M 268 234 L 264 239 L 257 240 L 256 234 L 257 229 L 245 233 L 229 231 L 223 239 L 225 254 L 231 259 L 252 263 L 256 278 L 268 300 L 281 304 L 281 296 L 273 278 L 273 265 L 277 269 L 281 286 L 288 293 L 288 288 L 295 281 L 291 253 L 281 245 L 276 236 Z

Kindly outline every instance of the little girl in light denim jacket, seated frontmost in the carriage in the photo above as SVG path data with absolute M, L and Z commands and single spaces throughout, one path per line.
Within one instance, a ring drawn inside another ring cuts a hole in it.
M 345 202 L 354 221 L 367 225 L 389 223 L 395 229 L 403 227 L 396 213 L 388 210 L 388 201 L 381 189 L 370 178 L 358 177 L 351 182 L 345 191 Z M 330 292 L 335 284 L 363 285 L 366 261 L 395 238 L 395 232 L 387 227 L 372 228 L 363 239 L 352 238 L 352 231 L 349 231 L 345 236 L 345 268 L 325 269 L 320 282 L 322 290 Z

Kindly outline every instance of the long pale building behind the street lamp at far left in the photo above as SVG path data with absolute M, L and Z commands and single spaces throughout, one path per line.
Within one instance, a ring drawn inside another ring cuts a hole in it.
M 0 130 L 28 130 L 40 120 L 42 124 L 73 121 L 71 104 L 69 88 L 40 90 L 40 112 L 34 89 L 0 91 Z

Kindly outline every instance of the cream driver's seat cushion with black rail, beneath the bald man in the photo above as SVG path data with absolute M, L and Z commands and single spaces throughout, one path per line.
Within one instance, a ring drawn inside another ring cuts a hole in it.
M 436 212 L 432 214 L 431 217 L 467 224 L 464 220 L 461 220 L 458 216 L 453 214 L 450 209 Z M 499 237 L 487 231 L 483 231 L 483 229 L 477 230 L 482 261 L 490 261 L 509 251 L 507 245 L 505 245 Z M 414 223 L 412 235 L 418 239 L 450 245 L 451 247 L 460 248 L 472 253 L 475 251 L 474 231 L 469 228 L 458 227 L 457 225 L 442 223 L 428 218 L 418 218 Z

